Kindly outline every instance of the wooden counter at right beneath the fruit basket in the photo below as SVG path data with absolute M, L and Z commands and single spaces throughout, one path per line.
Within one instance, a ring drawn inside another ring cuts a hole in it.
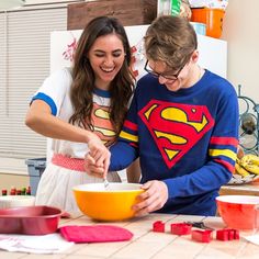
M 259 182 L 251 182 L 238 185 L 224 185 L 219 191 L 221 195 L 256 195 L 259 196 Z

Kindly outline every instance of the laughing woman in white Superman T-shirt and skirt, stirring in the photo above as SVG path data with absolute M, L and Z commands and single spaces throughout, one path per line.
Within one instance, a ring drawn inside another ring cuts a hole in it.
M 50 75 L 32 99 L 25 124 L 53 138 L 53 158 L 36 193 L 36 204 L 78 211 L 72 187 L 102 181 L 83 173 L 83 156 L 91 148 L 106 165 L 131 100 L 134 80 L 131 47 L 114 18 L 93 19 L 83 30 L 71 69 Z M 105 146 L 104 146 L 105 145 Z M 109 181 L 121 181 L 116 172 Z

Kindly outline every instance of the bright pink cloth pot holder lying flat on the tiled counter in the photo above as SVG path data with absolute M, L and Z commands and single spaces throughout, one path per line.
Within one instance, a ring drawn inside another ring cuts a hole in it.
M 110 225 L 63 226 L 59 232 L 66 240 L 74 243 L 124 241 L 133 237 L 130 230 Z

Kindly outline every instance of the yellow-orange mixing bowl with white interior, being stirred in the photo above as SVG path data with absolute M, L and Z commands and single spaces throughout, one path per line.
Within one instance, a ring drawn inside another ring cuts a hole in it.
M 88 183 L 75 187 L 74 194 L 80 211 L 98 221 L 123 221 L 134 216 L 132 206 L 144 192 L 138 183 Z

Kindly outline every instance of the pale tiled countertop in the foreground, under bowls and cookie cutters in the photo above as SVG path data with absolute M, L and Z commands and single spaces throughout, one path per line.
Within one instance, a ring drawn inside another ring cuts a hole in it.
M 166 223 L 166 233 L 154 233 L 153 223 L 162 221 Z M 211 243 L 198 243 L 191 239 L 191 235 L 177 236 L 170 234 L 170 224 L 184 221 L 204 221 L 215 229 L 223 228 L 221 217 L 202 217 L 171 214 L 150 214 L 143 218 L 133 218 L 127 222 L 109 223 L 127 228 L 134 234 L 130 241 L 77 244 L 63 254 L 32 255 L 22 252 L 0 251 L 0 258 L 10 259 L 232 259 L 232 258 L 258 258 L 259 246 L 246 241 L 244 238 L 232 241 L 221 241 L 214 238 Z M 97 224 L 86 216 L 60 221 L 61 225 L 93 225 Z M 100 223 L 99 223 L 100 224 Z M 108 223 L 105 223 L 108 224 Z M 240 236 L 251 235 L 252 232 L 240 232 Z

